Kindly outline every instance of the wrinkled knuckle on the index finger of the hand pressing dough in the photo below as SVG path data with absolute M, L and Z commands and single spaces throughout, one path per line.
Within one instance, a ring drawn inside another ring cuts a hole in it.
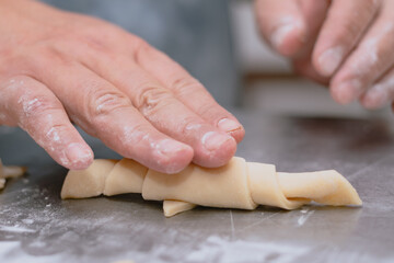
M 118 91 L 94 90 L 88 100 L 88 112 L 92 118 L 108 116 L 131 106 L 130 100 Z

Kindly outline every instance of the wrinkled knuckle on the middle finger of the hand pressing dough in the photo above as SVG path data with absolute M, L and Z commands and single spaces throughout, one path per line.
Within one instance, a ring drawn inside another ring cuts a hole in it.
M 171 98 L 171 93 L 165 89 L 158 85 L 146 84 L 140 89 L 140 92 L 135 100 L 135 106 L 143 115 L 152 115 L 157 111 L 169 105 Z

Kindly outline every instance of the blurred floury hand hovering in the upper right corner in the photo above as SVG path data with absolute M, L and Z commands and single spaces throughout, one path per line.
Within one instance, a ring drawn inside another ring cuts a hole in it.
M 343 104 L 394 99 L 394 1 L 257 0 L 263 36 Z

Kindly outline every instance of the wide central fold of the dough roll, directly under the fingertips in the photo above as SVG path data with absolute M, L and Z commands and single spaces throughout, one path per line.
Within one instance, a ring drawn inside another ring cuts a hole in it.
M 144 199 L 175 199 L 212 207 L 254 209 L 247 165 L 243 158 L 233 158 L 221 168 L 189 164 L 177 174 L 149 170 L 142 185 Z

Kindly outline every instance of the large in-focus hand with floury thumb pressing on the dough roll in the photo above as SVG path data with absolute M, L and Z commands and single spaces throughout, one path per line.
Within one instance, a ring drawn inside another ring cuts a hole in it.
M 192 50 L 190 50 L 192 52 Z M 58 163 L 93 160 L 74 122 L 126 158 L 166 173 L 227 163 L 244 129 L 179 65 L 129 33 L 42 3 L 0 3 L 0 124 Z

